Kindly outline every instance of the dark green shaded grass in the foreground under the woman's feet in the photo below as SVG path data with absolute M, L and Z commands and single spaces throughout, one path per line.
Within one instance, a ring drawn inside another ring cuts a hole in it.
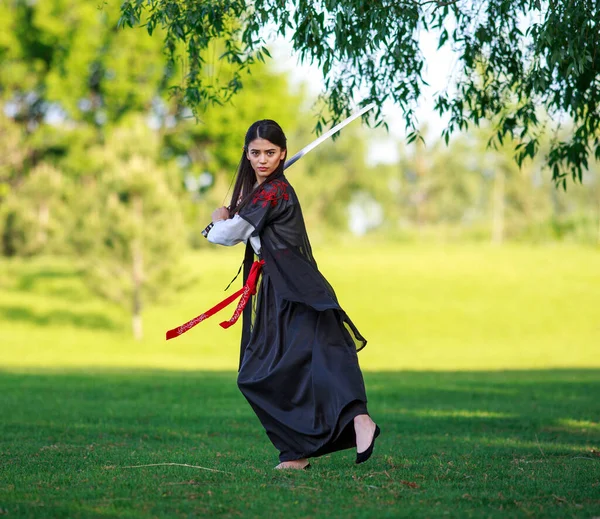
M 352 452 L 336 453 L 314 460 L 311 474 L 281 476 L 235 378 L 0 372 L 0 504 L 9 500 L 19 512 L 41 501 L 48 517 L 165 516 L 175 504 L 182 514 L 264 517 L 299 496 L 303 504 L 286 516 L 600 511 L 600 370 L 365 373 L 369 409 L 383 431 L 374 458 L 355 467 Z M 125 470 L 165 462 L 224 472 Z M 310 479 L 297 486 L 289 478 Z M 287 497 L 278 501 L 273 492 L 281 488 Z

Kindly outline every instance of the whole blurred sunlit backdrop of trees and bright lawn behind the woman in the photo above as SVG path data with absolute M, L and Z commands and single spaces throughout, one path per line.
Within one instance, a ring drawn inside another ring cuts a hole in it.
M 229 202 L 246 129 L 275 119 L 295 153 L 316 137 L 314 85 L 282 42 L 197 120 L 170 95 L 185 63 L 119 14 L 0 4 L 0 366 L 235 370 L 239 332 L 218 326 L 233 308 L 164 333 L 223 299 L 241 262 L 200 232 Z M 287 175 L 369 339 L 363 367 L 600 366 L 599 165 L 564 191 L 543 149 L 519 169 L 485 127 L 446 145 L 427 124 L 406 144 L 353 123 Z

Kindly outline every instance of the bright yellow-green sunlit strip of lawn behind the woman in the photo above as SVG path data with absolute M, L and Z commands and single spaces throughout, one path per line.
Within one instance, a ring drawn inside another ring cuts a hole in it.
M 369 340 L 364 369 L 600 367 L 599 250 L 362 247 L 316 257 Z M 0 365 L 236 369 L 239 325 L 218 326 L 233 306 L 175 340 L 164 334 L 224 297 L 242 252 L 187 256 L 182 277 L 195 281 L 145 311 L 141 342 L 127 312 L 89 294 L 72 265 L 0 263 Z

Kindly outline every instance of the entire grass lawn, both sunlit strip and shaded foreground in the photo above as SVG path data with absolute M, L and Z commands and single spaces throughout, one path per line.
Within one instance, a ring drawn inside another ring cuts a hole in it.
M 140 342 L 72 265 L 0 263 L 0 515 L 600 517 L 597 250 L 317 250 L 369 339 L 383 432 L 367 464 L 347 451 L 301 473 L 272 470 L 237 390 L 239 327 L 164 341 L 240 254 L 186 257 L 189 289 L 146 310 Z M 166 463 L 191 466 L 140 467 Z

